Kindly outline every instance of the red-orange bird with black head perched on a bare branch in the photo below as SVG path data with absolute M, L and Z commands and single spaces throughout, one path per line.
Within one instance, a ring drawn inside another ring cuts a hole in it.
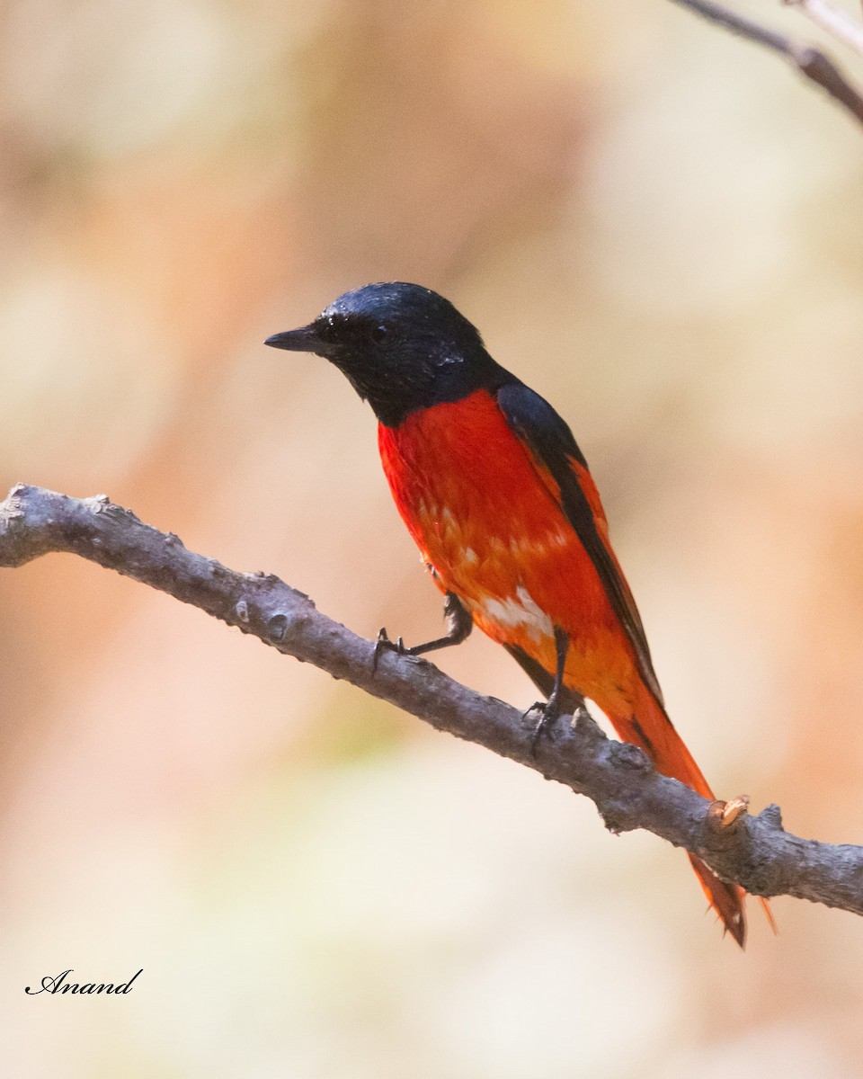
M 588 698 L 658 771 L 713 801 L 666 711 L 584 454 L 476 327 L 432 289 L 383 282 L 344 292 L 265 344 L 324 357 L 371 406 L 396 506 L 443 592 L 443 636 L 406 647 L 382 630 L 379 647 L 423 655 L 476 625 L 544 695 L 536 737 Z M 745 892 L 689 860 L 742 947 Z

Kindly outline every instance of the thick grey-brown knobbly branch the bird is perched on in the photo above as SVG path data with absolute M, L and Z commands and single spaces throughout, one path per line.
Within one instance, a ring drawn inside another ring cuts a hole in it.
M 448 678 L 424 659 L 384 652 L 320 614 L 278 577 L 236 573 L 195 555 L 172 533 L 143 524 L 105 495 L 71 498 L 15 487 L 0 503 L 0 566 L 68 551 L 191 603 L 286 655 L 502 756 L 586 794 L 614 832 L 645 829 L 703 858 L 756 896 L 795 896 L 863 914 L 863 847 L 800 839 L 782 828 L 778 806 L 749 817 L 744 803 L 723 812 L 654 770 L 640 749 L 605 737 L 581 713 L 559 722 L 532 754 L 532 724 L 493 697 Z M 730 822 L 730 823 L 729 823 Z M 727 827 L 726 827 L 727 825 Z

